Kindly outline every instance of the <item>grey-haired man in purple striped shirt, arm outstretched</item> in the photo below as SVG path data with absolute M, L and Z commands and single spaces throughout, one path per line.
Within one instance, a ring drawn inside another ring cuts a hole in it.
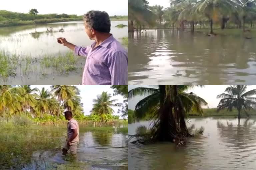
M 95 42 L 87 47 L 76 46 L 65 38 L 61 43 L 76 55 L 87 56 L 83 72 L 83 85 L 127 85 L 128 52 L 112 34 L 106 12 L 89 11 L 84 15 L 85 32 Z

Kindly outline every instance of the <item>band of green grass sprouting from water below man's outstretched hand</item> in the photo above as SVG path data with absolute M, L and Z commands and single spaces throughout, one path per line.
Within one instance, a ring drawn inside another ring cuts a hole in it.
M 40 69 L 52 68 L 61 74 L 68 74 L 78 68 L 83 57 L 74 56 L 73 52 L 65 54 L 45 54 L 43 57 L 20 56 L 0 51 L 0 76 L 4 79 L 17 76 L 17 69 L 21 70 L 23 75 L 37 71 L 35 65 Z

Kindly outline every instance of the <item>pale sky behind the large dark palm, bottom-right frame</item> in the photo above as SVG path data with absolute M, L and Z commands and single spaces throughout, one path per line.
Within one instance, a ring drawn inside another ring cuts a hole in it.
M 204 87 L 194 87 L 187 92 L 193 92 L 199 97 L 203 98 L 207 103 L 209 108 L 216 108 L 219 104 L 220 99 L 217 99 L 217 95 L 224 93 L 226 87 L 229 85 L 205 85 Z M 139 86 L 139 85 L 129 85 L 128 90 L 136 87 L 149 87 L 149 86 Z M 154 88 L 154 86 L 151 86 Z M 247 91 L 256 89 L 256 85 L 247 86 Z M 145 97 L 145 96 L 144 96 Z M 128 100 L 128 109 L 134 110 L 136 104 L 144 97 L 134 97 Z M 203 108 L 207 108 L 204 106 Z

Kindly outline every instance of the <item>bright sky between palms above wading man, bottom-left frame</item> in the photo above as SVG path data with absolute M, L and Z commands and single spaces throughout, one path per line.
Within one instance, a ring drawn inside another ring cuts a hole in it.
M 80 96 L 82 97 L 81 102 L 84 104 L 84 114 L 85 115 L 90 115 L 90 111 L 92 110 L 92 105 L 93 105 L 93 99 L 97 98 L 97 95 L 101 94 L 103 91 L 107 91 L 113 96 L 114 89 L 110 88 L 110 85 L 75 85 L 80 89 Z M 50 85 L 31 85 L 31 88 L 39 88 L 40 90 L 44 87 L 45 89 L 49 89 Z M 118 101 L 116 103 L 122 103 L 123 102 L 123 97 L 121 95 L 116 95 L 113 96 L 112 99 L 117 99 Z M 113 110 L 115 113 L 113 115 L 121 115 L 118 114 L 118 107 L 113 107 Z M 121 117 L 120 117 L 121 118 Z

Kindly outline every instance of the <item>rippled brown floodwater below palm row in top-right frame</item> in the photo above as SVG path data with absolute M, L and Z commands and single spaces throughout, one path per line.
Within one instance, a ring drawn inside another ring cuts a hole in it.
M 129 84 L 253 84 L 255 38 L 176 30 L 129 33 Z

